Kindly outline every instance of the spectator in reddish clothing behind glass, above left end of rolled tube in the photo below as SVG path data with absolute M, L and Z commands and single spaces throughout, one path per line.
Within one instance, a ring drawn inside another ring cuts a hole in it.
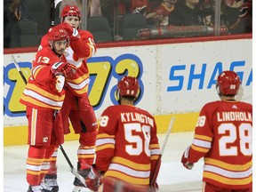
M 177 0 L 164 0 L 152 12 L 145 15 L 148 25 L 168 26 L 168 15 L 174 10 Z

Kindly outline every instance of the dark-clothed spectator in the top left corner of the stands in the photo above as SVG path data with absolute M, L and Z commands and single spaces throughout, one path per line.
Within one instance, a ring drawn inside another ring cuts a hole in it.
M 4 48 L 9 47 L 15 22 L 28 19 L 28 11 L 20 0 L 4 0 Z

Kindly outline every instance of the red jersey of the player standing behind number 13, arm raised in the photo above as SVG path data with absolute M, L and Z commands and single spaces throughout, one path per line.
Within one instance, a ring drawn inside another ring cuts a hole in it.
M 74 76 L 66 78 L 66 86 L 70 92 L 82 97 L 87 94 L 90 82 L 86 59 L 92 57 L 97 48 L 89 31 L 78 29 L 78 32 L 79 35 L 77 37 L 71 38 L 70 46 L 66 49 L 64 55 L 68 63 L 75 65 L 77 68 Z M 41 47 L 44 46 L 49 46 L 47 35 L 41 41 Z

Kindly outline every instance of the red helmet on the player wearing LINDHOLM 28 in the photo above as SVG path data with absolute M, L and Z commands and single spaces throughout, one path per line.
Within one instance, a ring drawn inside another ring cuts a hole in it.
M 216 88 L 219 94 L 223 95 L 236 95 L 241 81 L 239 76 L 237 76 L 234 71 L 223 71 L 220 76 L 218 76 Z

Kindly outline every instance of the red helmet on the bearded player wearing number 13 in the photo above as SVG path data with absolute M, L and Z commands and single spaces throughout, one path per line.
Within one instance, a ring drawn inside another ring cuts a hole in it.
M 60 41 L 67 39 L 69 41 L 68 33 L 64 28 L 58 27 L 52 27 L 48 31 L 48 39 L 49 41 Z

